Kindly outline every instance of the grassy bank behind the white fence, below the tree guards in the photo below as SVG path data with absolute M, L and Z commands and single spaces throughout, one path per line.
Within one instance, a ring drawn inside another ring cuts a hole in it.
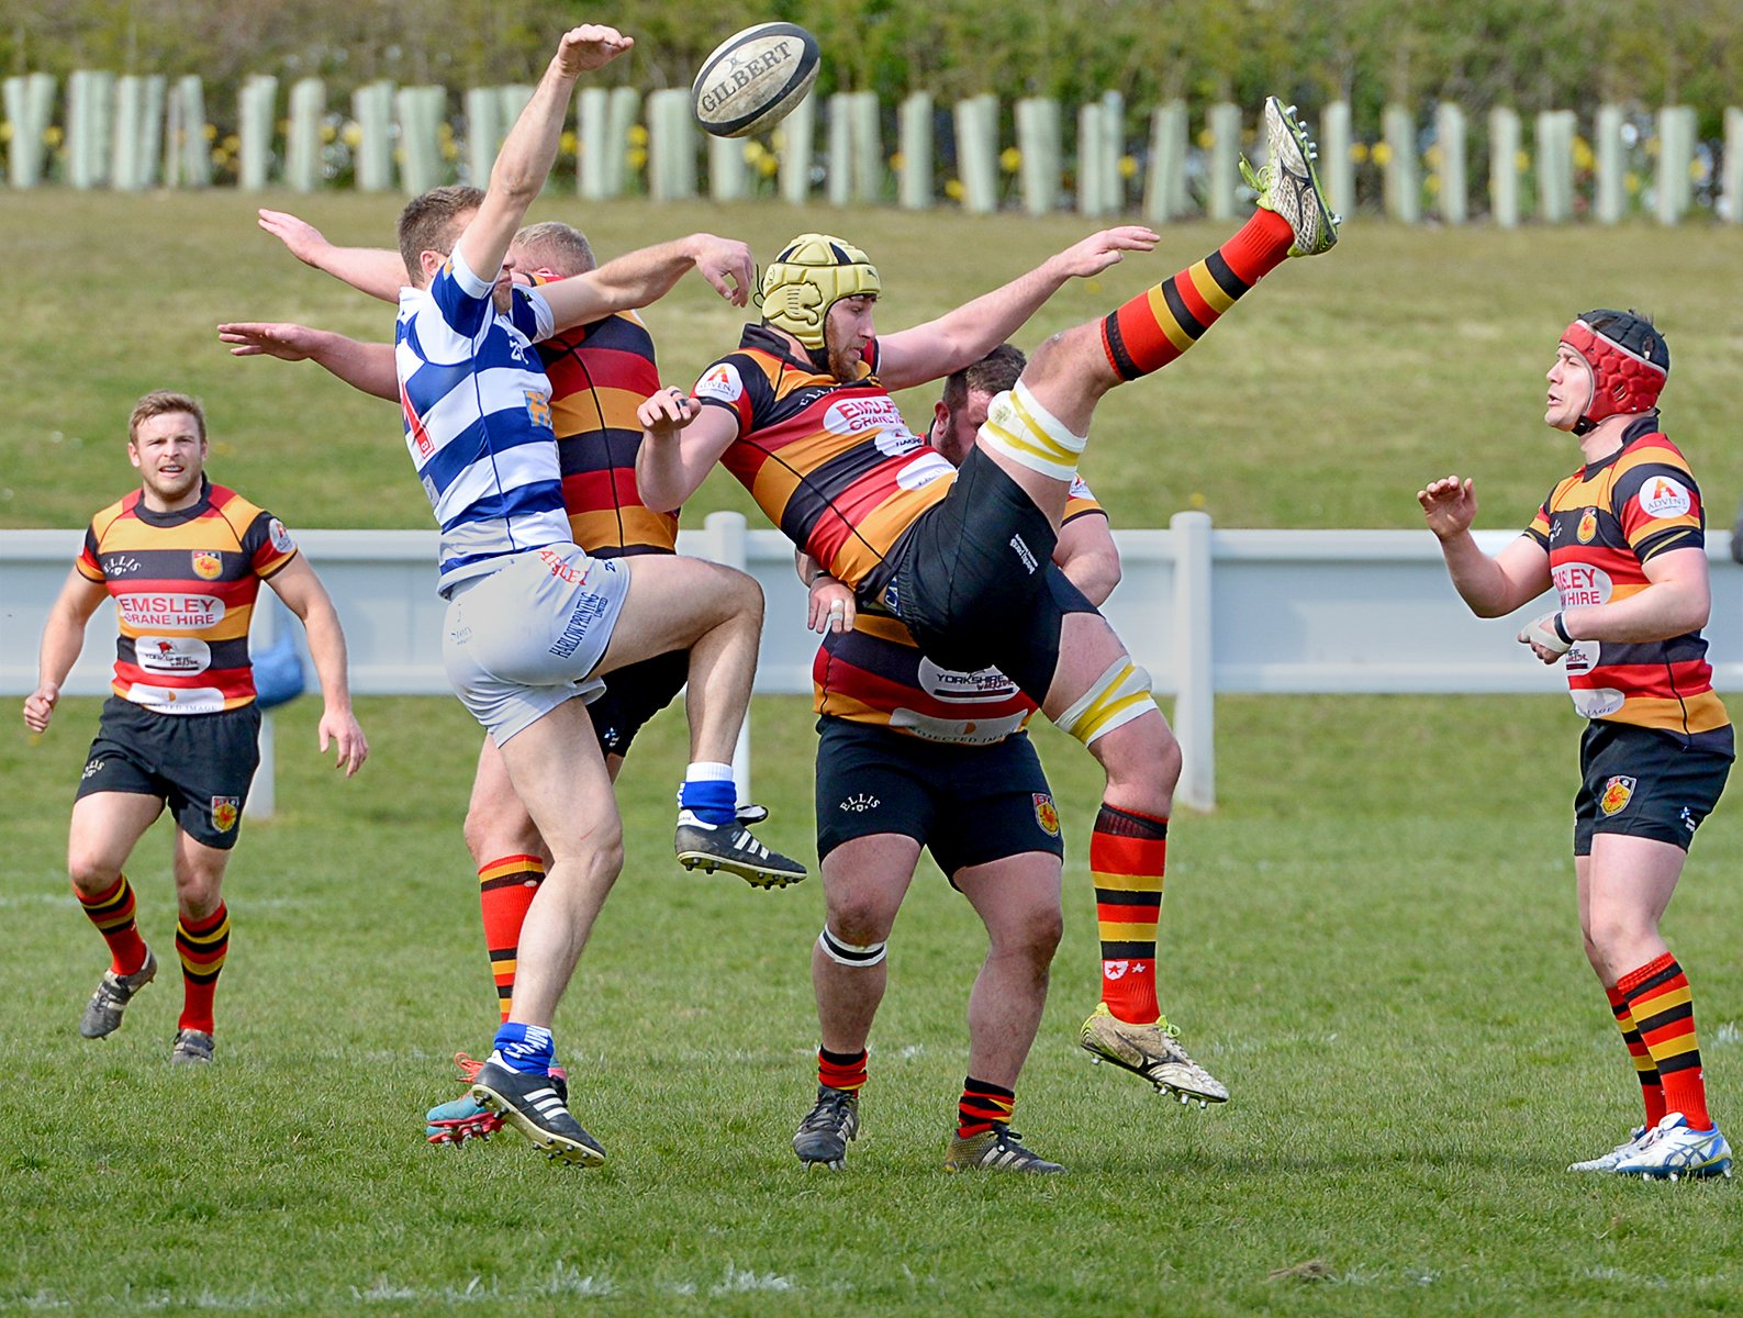
M 235 361 L 213 326 L 303 319 L 385 338 L 392 310 L 293 262 L 253 225 L 258 202 L 302 211 L 336 242 L 390 242 L 397 199 L 237 192 L 7 197 L 12 314 L 0 326 L 0 527 L 80 525 L 125 488 L 125 417 L 148 389 L 206 399 L 227 479 L 295 527 L 427 527 L 399 422 L 315 366 Z M 885 281 L 885 331 L 948 310 L 1089 232 L 1067 216 L 776 204 L 582 206 L 537 218 L 582 225 L 605 255 L 694 228 L 749 239 L 767 262 L 807 227 L 865 246 Z M 1072 282 L 1016 336 L 1105 312 L 1210 251 L 1227 230 L 1178 225 L 1157 253 Z M 1654 312 L 1673 354 L 1666 425 L 1729 523 L 1743 488 L 1731 396 L 1743 305 L 1717 277 L 1743 262 L 1743 228 L 1651 225 L 1499 232 L 1363 220 L 1337 251 L 1292 262 L 1161 380 L 1116 391 L 1084 472 L 1117 525 L 1163 527 L 1204 507 L 1225 527 L 1415 527 L 1434 476 L 1478 479 L 1483 527 L 1522 527 L 1577 462 L 1543 425 L 1543 371 L 1579 310 Z M 688 384 L 737 342 L 743 314 L 695 277 L 648 312 L 669 380 Z M 924 425 L 933 391 L 903 396 Z M 729 478 L 692 500 L 753 511 Z M 699 525 L 699 518 L 695 518 Z

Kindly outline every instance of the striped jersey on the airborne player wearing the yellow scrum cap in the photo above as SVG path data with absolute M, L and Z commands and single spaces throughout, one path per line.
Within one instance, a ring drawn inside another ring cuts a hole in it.
M 859 378 L 842 384 L 788 356 L 770 330 L 746 326 L 739 350 L 702 371 L 694 392 L 737 420 L 722 465 L 769 521 L 849 586 L 884 565 L 955 478 L 878 384 L 877 342 Z

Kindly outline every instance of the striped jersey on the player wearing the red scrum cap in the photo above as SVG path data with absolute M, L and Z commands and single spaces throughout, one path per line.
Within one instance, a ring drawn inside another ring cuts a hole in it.
M 1705 549 L 1706 514 L 1687 460 L 1659 434 L 1658 413 L 1647 413 L 1623 432 L 1616 453 L 1556 485 L 1525 533 L 1548 551 L 1562 607 L 1574 608 L 1638 594 L 1651 584 L 1644 565 L 1666 549 Z M 1712 676 L 1698 631 L 1659 642 L 1581 640 L 1567 652 L 1567 685 L 1586 718 L 1729 748 L 1731 718 Z

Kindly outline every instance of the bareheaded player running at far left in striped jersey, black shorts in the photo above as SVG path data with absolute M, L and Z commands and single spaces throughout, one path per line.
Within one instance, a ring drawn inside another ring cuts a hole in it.
M 206 413 L 159 391 L 127 420 L 139 488 L 92 518 L 85 544 L 42 633 L 37 690 L 24 724 L 44 732 L 84 649 L 85 626 L 115 600 L 113 696 L 73 798 L 66 868 L 112 964 L 78 1032 L 120 1029 L 134 995 L 157 976 L 139 934 L 127 856 L 152 821 L 176 821 L 176 952 L 181 1016 L 169 1060 L 213 1060 L 213 997 L 230 945 L 225 866 L 260 764 L 260 708 L 248 657 L 260 582 L 302 619 L 321 678 L 321 750 L 335 746 L 350 778 L 370 743 L 350 711 L 345 635 L 314 568 L 284 523 L 206 478 Z

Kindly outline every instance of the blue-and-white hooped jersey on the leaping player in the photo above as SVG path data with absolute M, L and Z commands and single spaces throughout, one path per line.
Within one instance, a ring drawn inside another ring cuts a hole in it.
M 427 289 L 399 293 L 399 404 L 441 525 L 443 594 L 504 554 L 570 539 L 551 382 L 532 349 L 551 333 L 551 307 L 516 288 L 498 314 L 492 282 L 455 251 Z

